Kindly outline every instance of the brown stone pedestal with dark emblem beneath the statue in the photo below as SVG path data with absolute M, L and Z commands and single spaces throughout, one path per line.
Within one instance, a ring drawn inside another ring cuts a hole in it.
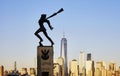
M 37 47 L 37 76 L 53 76 L 53 47 Z

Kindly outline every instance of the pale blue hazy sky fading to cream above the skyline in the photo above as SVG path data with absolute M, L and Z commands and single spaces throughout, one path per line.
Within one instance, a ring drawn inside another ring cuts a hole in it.
M 120 65 L 120 0 L 0 0 L 0 65 L 12 68 L 34 67 L 41 14 L 54 27 L 47 32 L 54 41 L 54 58 L 60 55 L 60 41 L 65 32 L 68 59 L 78 59 L 80 51 L 92 53 L 95 61 L 114 61 Z M 44 38 L 44 44 L 49 41 Z

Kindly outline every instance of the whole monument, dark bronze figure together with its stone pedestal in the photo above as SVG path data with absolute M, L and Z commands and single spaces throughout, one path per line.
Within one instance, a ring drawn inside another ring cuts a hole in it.
M 37 76 L 53 76 L 53 45 L 54 42 L 48 36 L 46 29 L 44 27 L 44 23 L 47 23 L 49 28 L 52 30 L 53 27 L 50 24 L 49 18 L 57 15 L 62 12 L 63 8 L 58 10 L 58 12 L 53 13 L 51 16 L 46 17 L 46 14 L 42 14 L 38 23 L 40 28 L 34 33 L 39 39 L 39 46 L 37 47 Z M 51 42 L 50 46 L 45 46 L 42 44 L 43 39 L 39 35 L 40 32 L 43 32 L 45 37 Z

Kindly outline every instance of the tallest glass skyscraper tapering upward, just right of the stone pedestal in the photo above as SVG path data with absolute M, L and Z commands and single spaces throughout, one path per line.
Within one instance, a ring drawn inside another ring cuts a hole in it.
M 68 66 L 67 66 L 67 39 L 63 36 L 61 40 L 61 51 L 60 57 L 64 59 L 64 75 L 68 76 Z

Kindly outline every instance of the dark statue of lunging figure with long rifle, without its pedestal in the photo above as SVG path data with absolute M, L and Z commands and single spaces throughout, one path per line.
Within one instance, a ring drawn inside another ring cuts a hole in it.
M 62 12 L 63 11 L 63 8 L 61 8 L 58 12 L 52 14 L 51 16 L 47 17 L 46 18 L 46 14 L 42 14 L 41 15 L 41 18 L 39 19 L 38 23 L 39 23 L 39 26 L 40 28 L 34 33 L 39 39 L 40 39 L 40 46 L 43 46 L 42 42 L 43 42 L 43 39 L 41 38 L 41 36 L 38 34 L 39 32 L 43 32 L 43 34 L 46 36 L 46 38 L 51 42 L 51 46 L 54 45 L 54 42 L 52 41 L 52 39 L 48 36 L 47 32 L 46 32 L 46 29 L 44 27 L 44 23 L 46 22 L 49 26 L 49 28 L 52 30 L 53 27 L 51 26 L 50 24 L 50 21 L 48 20 L 49 18 L 57 15 L 58 13 Z

